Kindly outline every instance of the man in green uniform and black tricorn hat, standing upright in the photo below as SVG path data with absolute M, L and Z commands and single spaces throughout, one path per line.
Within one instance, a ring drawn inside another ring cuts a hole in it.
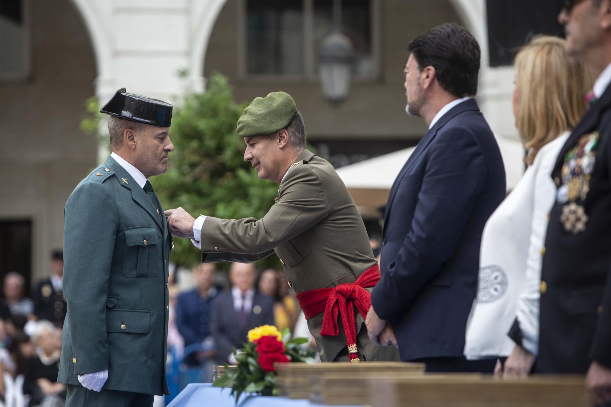
M 68 407 L 152 406 L 166 381 L 172 238 L 148 178 L 167 170 L 172 105 L 117 90 L 112 154 L 66 202 L 58 381 Z

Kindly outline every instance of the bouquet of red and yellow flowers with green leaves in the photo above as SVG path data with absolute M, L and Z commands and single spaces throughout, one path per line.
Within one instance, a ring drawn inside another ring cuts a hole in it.
M 233 355 L 236 367 L 225 365 L 225 375 L 216 380 L 215 387 L 232 386 L 236 403 L 243 392 L 278 395 L 274 362 L 313 362 L 313 351 L 302 350 L 306 338 L 291 339 L 288 328 L 278 331 L 275 326 L 263 325 L 248 331 L 248 343 Z

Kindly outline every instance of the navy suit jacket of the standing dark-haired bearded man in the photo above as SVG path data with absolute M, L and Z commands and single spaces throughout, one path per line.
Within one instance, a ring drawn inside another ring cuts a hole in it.
M 481 232 L 504 197 L 499 146 L 477 102 L 463 101 L 419 142 L 386 205 L 371 301 L 401 360 L 463 356 Z

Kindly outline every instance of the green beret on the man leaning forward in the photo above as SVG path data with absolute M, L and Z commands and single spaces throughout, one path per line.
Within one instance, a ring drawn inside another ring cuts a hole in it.
M 267 136 L 288 126 L 297 106 L 286 92 L 273 92 L 265 98 L 258 97 L 244 109 L 238 120 L 236 132 L 240 137 Z

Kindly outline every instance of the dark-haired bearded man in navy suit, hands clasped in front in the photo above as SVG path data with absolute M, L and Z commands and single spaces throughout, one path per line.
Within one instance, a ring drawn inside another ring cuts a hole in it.
M 429 130 L 390 189 L 367 329 L 428 372 L 492 372 L 492 363 L 474 366 L 463 357 L 481 232 L 505 197 L 499 147 L 472 98 L 480 47 L 466 29 L 444 24 L 408 51 L 406 110 Z

